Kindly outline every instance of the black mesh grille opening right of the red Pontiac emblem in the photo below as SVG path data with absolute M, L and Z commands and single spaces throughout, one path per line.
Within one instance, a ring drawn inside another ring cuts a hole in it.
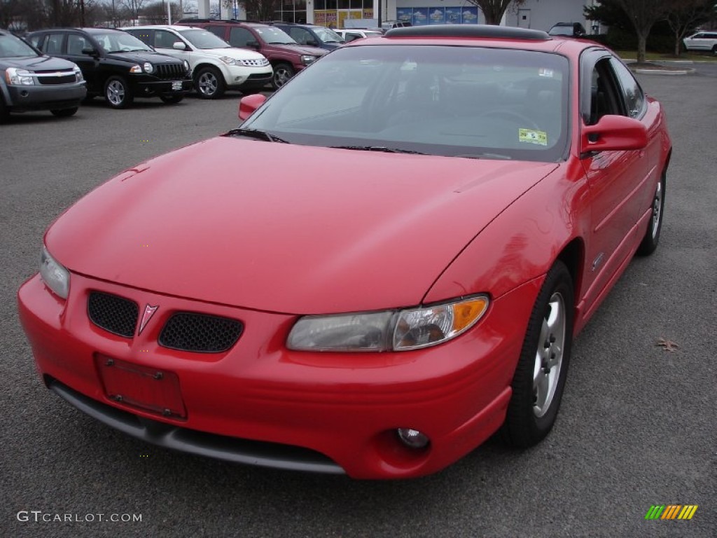
M 180 351 L 219 353 L 232 347 L 242 334 L 241 321 L 196 312 L 177 312 L 159 335 L 159 345 Z

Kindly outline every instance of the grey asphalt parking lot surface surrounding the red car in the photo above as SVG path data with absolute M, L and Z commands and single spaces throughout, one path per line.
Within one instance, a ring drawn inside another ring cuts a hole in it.
M 126 167 L 236 126 L 236 93 L 123 111 L 96 100 L 73 118 L 0 126 L 0 536 L 716 537 L 714 76 L 639 75 L 674 141 L 660 247 L 631 263 L 576 340 L 554 431 L 522 452 L 490 440 L 412 481 L 163 450 L 83 415 L 37 377 L 15 293 L 37 271 L 45 227 Z M 251 158 L 227 162 L 227 174 Z M 698 509 L 688 521 L 645 519 L 663 504 Z

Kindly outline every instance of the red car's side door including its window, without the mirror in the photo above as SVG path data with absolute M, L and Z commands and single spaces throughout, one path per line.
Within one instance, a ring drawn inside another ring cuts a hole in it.
M 598 52 L 584 55 L 582 59 L 587 62 L 581 68 L 580 80 L 581 117 L 586 125 L 598 123 L 604 115 L 630 115 L 640 119 L 645 113 L 644 96 L 641 108 L 628 112 L 625 92 L 611 58 L 607 52 Z M 637 100 L 632 104 L 636 103 Z M 642 210 L 649 207 L 645 199 L 650 175 L 648 163 L 645 149 L 599 151 L 583 156 L 591 205 L 586 245 L 587 305 L 596 306 L 594 301 L 632 255 L 637 240 L 637 220 Z

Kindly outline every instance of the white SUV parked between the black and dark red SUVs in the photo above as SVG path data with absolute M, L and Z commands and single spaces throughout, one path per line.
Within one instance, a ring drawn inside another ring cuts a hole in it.
M 231 47 L 202 28 L 133 26 L 123 28 L 158 52 L 186 60 L 199 97 L 216 99 L 226 90 L 259 91 L 271 82 L 273 70 L 259 52 Z

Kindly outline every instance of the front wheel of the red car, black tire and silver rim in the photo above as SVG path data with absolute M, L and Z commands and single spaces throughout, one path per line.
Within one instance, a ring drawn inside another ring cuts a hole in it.
M 565 264 L 557 261 L 536 298 L 513 377 L 503 425 L 509 445 L 531 447 L 553 428 L 570 362 L 573 309 L 573 281 Z

